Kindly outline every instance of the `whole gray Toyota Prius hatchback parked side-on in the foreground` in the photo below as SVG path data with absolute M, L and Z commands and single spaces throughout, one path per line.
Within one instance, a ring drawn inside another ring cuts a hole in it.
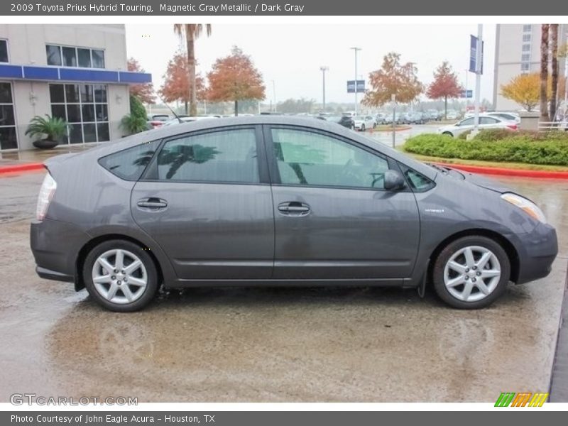
M 458 308 L 550 272 L 530 200 L 337 124 L 256 116 L 139 133 L 46 162 L 43 278 L 138 310 L 160 285 L 395 285 Z

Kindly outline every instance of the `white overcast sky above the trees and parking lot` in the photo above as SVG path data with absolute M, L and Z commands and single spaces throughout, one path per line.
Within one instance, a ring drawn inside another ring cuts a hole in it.
M 427 18 L 425 18 L 427 19 Z M 273 100 L 273 84 L 278 102 L 288 98 L 313 98 L 322 101 L 321 65 L 327 65 L 326 101 L 353 102 L 346 93 L 346 80 L 355 73 L 354 51 L 358 57 L 359 78 L 381 67 L 383 55 L 397 52 L 403 62 L 416 62 L 420 81 L 429 84 L 432 72 L 448 60 L 465 85 L 469 66 L 469 35 L 477 34 L 475 24 L 462 25 L 329 25 L 274 24 L 212 26 L 212 35 L 196 43 L 197 71 L 205 75 L 212 63 L 238 45 L 262 73 L 267 102 Z M 484 76 L 481 98 L 493 99 L 495 26 L 484 26 Z M 168 60 L 180 48 L 172 25 L 126 25 L 126 48 L 151 72 L 155 87 L 160 87 Z M 468 88 L 474 89 L 475 75 L 469 73 Z M 360 95 L 361 96 L 361 95 Z M 425 99 L 422 95 L 422 99 Z

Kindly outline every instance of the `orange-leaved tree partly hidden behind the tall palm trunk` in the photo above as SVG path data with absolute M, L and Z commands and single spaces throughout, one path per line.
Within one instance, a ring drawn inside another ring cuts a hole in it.
M 187 79 L 187 58 L 184 53 L 176 53 L 170 62 L 164 75 L 164 84 L 160 87 L 160 96 L 164 102 L 181 101 L 185 104 L 185 114 L 190 113 L 190 80 Z M 197 75 L 195 78 L 197 88 L 196 98 L 205 99 L 205 87 L 203 78 Z

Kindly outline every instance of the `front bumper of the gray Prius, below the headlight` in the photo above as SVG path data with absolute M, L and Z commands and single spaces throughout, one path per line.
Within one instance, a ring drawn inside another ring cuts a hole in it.
M 538 224 L 532 232 L 517 237 L 519 261 L 515 283 L 528 283 L 547 276 L 558 254 L 555 229 L 550 225 Z

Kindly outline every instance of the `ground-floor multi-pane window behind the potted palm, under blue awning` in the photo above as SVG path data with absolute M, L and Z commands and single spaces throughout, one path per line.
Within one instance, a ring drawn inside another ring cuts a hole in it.
M 51 115 L 67 121 L 67 143 L 109 141 L 104 84 L 50 84 Z

